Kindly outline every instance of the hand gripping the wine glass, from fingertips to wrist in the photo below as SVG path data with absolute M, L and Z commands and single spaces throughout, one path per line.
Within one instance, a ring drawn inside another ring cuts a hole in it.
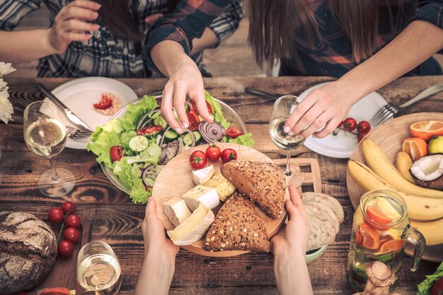
M 343 121 L 355 102 L 338 81 L 313 89 L 295 108 L 284 126 L 284 132 L 300 134 L 304 138 L 311 134 L 317 138 L 326 137 Z M 317 131 L 323 125 L 326 126 Z

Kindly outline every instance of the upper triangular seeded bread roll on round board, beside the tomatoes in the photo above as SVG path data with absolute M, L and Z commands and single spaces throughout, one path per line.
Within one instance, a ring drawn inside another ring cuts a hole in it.
M 277 219 L 284 209 L 286 179 L 275 163 L 231 161 L 220 167 L 224 178 L 263 209 L 270 218 Z

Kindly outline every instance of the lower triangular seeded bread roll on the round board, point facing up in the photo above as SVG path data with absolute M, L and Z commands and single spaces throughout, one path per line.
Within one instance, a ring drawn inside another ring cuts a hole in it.
M 253 202 L 241 192 L 234 192 L 220 208 L 205 237 L 205 250 L 269 252 L 265 224 Z

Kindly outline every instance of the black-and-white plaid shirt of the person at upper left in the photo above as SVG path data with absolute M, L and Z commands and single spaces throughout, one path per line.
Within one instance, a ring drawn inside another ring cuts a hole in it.
M 50 23 L 63 6 L 71 0 L 3 0 L 0 1 L 0 30 L 13 30 L 21 18 L 40 8 L 44 2 L 50 11 Z M 154 13 L 166 13 L 166 0 L 131 0 L 130 8 L 136 11 L 140 32 L 150 28 L 144 18 Z M 219 42 L 238 28 L 243 18 L 241 0 L 226 1 L 226 7 L 207 26 L 217 35 Z M 218 45 L 218 44 L 217 44 Z M 215 45 L 215 47 L 217 46 Z M 202 52 L 193 57 L 204 76 L 210 75 L 202 63 Z M 38 61 L 39 77 L 106 76 L 146 78 L 151 76 L 147 62 L 142 57 L 142 45 L 120 40 L 104 27 L 93 33 L 86 42 L 71 42 L 62 54 L 52 54 Z

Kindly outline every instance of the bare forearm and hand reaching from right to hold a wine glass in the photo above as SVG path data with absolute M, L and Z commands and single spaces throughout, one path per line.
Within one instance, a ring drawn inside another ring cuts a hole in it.
M 382 50 L 338 81 L 311 91 L 289 117 L 285 132 L 291 130 L 305 138 L 311 134 L 326 137 L 354 103 L 414 69 L 442 48 L 442 28 L 427 21 L 413 21 Z M 316 132 L 325 124 L 325 128 Z

